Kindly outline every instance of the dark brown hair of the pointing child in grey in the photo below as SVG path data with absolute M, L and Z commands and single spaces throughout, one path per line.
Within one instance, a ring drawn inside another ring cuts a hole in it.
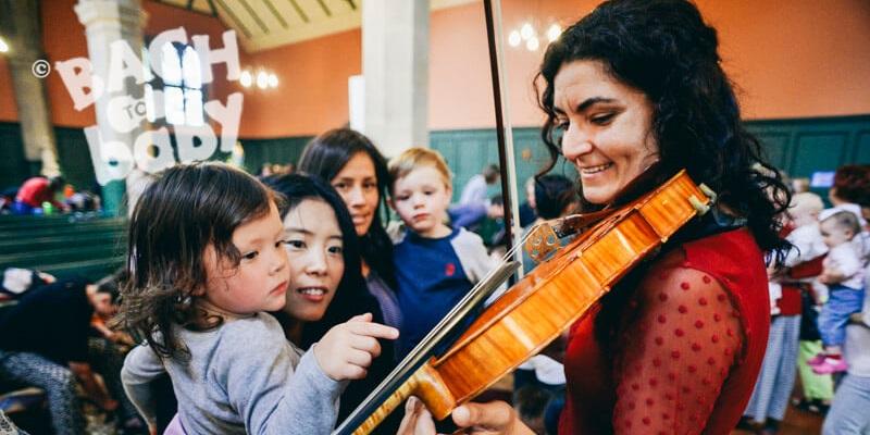
M 197 309 L 195 291 L 208 281 L 206 247 L 237 265 L 233 232 L 266 215 L 273 201 L 281 206 L 257 178 L 223 163 L 182 164 L 158 174 L 129 221 L 116 323 L 144 336 L 162 357 L 185 357 L 176 326 L 207 331 L 222 323 Z

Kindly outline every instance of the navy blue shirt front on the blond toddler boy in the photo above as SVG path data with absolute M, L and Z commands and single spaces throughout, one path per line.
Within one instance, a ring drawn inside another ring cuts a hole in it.
M 453 229 L 446 237 L 425 238 L 409 231 L 394 247 L 402 314 L 398 358 L 413 349 L 473 287 L 450 244 L 458 234 Z

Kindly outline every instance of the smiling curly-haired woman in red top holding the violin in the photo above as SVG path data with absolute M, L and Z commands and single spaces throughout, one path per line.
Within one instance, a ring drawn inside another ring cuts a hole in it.
M 749 399 L 770 322 L 762 252 L 788 246 L 774 219 L 788 194 L 741 123 L 717 47 L 688 1 L 612 0 L 547 49 L 543 138 L 576 166 L 584 211 L 680 169 L 719 194 L 570 328 L 560 434 L 728 434 Z M 425 433 L 421 415 L 407 427 Z M 505 403 L 453 420 L 529 433 Z

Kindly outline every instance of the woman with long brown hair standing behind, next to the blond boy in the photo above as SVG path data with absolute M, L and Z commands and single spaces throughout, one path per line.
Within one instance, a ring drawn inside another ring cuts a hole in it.
M 396 298 L 396 277 L 393 264 L 393 243 L 387 236 L 381 219 L 382 207 L 386 207 L 386 189 L 389 173 L 384 157 L 364 135 L 349 128 L 337 128 L 312 139 L 302 150 L 298 170 L 331 184 L 350 212 L 357 234 L 365 287 L 377 300 L 370 307 L 336 300 L 331 310 L 347 314 L 374 311 L 374 322 L 396 328 L 401 327 L 402 316 Z M 343 421 L 374 387 L 389 374 L 396 364 L 394 345 L 382 341 L 382 353 L 369 369 L 365 380 L 352 383 L 341 395 Z M 385 422 L 384 427 L 398 426 L 398 417 Z

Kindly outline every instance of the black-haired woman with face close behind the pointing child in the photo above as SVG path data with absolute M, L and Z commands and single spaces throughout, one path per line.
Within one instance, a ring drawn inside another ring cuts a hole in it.
M 290 285 L 287 304 L 275 314 L 288 340 L 308 349 L 333 326 L 355 315 L 372 313 L 378 319 L 377 300 L 365 289 L 360 244 L 353 221 L 341 197 L 320 178 L 287 174 L 263 181 L 282 194 L 281 210 L 289 259 Z M 316 229 L 334 213 L 340 234 Z M 394 365 L 391 341 L 381 341 L 381 356 L 363 380 L 352 381 L 341 394 L 338 421 L 352 411 L 389 373 Z

